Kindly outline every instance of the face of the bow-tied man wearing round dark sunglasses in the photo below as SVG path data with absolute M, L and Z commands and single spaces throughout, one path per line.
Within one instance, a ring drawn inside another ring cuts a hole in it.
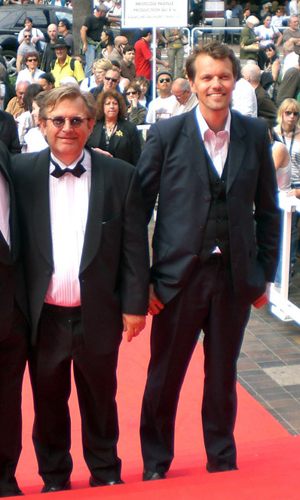
M 66 98 L 60 101 L 53 109 L 48 110 L 47 118 L 88 118 L 88 110 L 81 97 Z M 81 153 L 90 136 L 94 120 L 83 120 L 79 128 L 72 127 L 66 120 L 62 128 L 56 128 L 51 120 L 41 120 L 41 128 L 47 138 L 50 150 L 65 165 L 70 165 Z

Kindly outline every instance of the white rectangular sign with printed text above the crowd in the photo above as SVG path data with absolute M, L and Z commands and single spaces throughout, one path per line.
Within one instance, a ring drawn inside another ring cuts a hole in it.
M 123 28 L 174 28 L 187 25 L 188 0 L 123 0 Z

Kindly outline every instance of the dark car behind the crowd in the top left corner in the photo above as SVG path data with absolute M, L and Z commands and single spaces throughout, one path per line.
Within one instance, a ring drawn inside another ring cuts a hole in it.
M 33 26 L 46 33 L 49 24 L 58 25 L 60 19 L 73 23 L 72 9 L 55 5 L 4 5 L 0 6 L 0 54 L 4 57 L 9 76 L 14 76 L 16 70 L 16 55 L 18 50 L 18 34 L 24 28 L 26 17 L 31 17 Z

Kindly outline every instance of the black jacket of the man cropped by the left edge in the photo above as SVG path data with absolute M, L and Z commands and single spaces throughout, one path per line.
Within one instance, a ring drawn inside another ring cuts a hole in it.
M 25 286 L 20 259 L 20 239 L 17 210 L 10 179 L 10 156 L 0 141 L 0 170 L 9 186 L 10 195 L 10 239 L 11 248 L 0 231 L 0 341 L 5 339 L 12 327 L 14 301 L 16 300 L 28 316 Z

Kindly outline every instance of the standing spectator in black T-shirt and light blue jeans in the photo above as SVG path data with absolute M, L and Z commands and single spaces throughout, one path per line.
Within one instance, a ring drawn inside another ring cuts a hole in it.
M 81 28 L 82 51 L 86 60 L 85 76 L 91 75 L 94 59 L 100 56 L 100 37 L 103 26 L 108 23 L 106 13 L 107 7 L 99 4 L 95 7 L 94 13 L 86 17 Z

